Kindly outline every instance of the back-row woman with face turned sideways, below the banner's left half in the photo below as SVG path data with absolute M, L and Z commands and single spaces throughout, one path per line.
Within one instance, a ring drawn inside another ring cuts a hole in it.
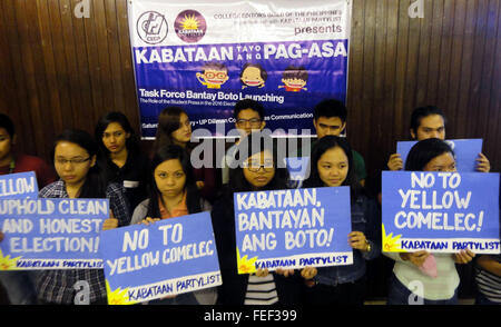
M 179 107 L 167 107 L 158 116 L 158 128 L 154 151 L 170 145 L 185 148 L 188 153 L 194 149 L 190 143 L 191 123 L 188 115 Z M 216 170 L 212 167 L 193 168 L 196 186 L 202 197 L 214 201 L 216 190 Z

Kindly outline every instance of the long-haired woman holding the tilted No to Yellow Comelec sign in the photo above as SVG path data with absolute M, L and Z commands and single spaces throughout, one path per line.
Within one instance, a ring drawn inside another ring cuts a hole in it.
M 199 196 L 189 156 L 181 147 L 171 145 L 158 149 L 151 160 L 150 175 L 149 197 L 136 207 L 131 224 L 150 224 L 210 210 L 210 205 Z M 149 304 L 214 305 L 216 296 L 216 289 L 208 288 Z

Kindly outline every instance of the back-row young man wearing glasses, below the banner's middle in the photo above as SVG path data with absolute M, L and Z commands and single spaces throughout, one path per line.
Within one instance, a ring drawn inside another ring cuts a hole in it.
M 239 100 L 233 110 L 233 117 L 235 118 L 235 127 L 239 131 L 242 137 L 249 135 L 253 130 L 263 130 L 266 126 L 264 121 L 264 107 L 252 99 Z M 235 151 L 237 149 L 239 140 L 237 140 L 223 157 L 222 161 L 222 179 L 223 185 L 229 180 L 229 167 L 235 159 Z

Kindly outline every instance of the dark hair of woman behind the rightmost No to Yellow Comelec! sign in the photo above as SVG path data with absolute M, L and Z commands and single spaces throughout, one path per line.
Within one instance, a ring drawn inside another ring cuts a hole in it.
M 422 171 L 424 166 L 433 158 L 446 152 L 455 157 L 452 148 L 441 139 L 431 138 L 419 141 L 409 151 L 405 159 L 405 170 Z

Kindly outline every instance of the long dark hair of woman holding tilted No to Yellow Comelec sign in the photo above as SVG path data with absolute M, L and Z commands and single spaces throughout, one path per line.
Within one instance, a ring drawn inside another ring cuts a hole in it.
M 183 171 L 186 175 L 185 190 L 186 206 L 189 214 L 196 214 L 202 211 L 200 195 L 195 184 L 195 177 L 193 175 L 191 164 L 189 162 L 189 155 L 179 146 L 170 145 L 158 149 L 151 160 L 151 172 L 149 177 L 149 205 L 147 217 L 160 217 L 160 209 L 158 207 L 158 198 L 161 198 L 161 194 L 155 182 L 155 169 L 164 161 L 179 160 Z

